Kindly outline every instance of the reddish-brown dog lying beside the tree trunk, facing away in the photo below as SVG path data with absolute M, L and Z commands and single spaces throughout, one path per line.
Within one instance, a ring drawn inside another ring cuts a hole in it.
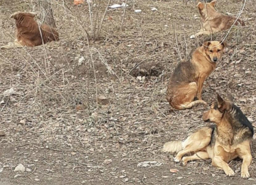
M 10 43 L 1 48 L 23 47 L 23 46 L 39 46 L 51 41 L 58 41 L 58 32 L 45 24 L 39 26 L 34 20 L 36 13 L 33 12 L 17 12 L 11 15 L 10 18 L 15 19 L 17 34 L 13 43 Z M 41 32 L 41 33 L 40 33 Z M 42 37 L 41 37 L 42 34 Z

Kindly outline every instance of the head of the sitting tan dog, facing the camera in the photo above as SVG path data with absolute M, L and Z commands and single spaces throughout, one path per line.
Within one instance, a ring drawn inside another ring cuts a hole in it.
M 204 52 L 210 62 L 216 63 L 221 60 L 223 49 L 227 47 L 227 43 L 223 41 L 206 41 L 203 44 Z

